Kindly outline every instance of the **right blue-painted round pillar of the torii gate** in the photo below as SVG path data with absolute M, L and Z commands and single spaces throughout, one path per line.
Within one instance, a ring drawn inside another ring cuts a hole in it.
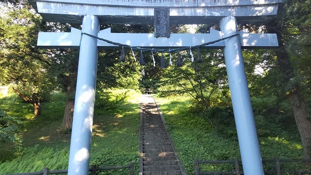
M 236 19 L 232 16 L 220 21 L 224 37 L 237 34 Z M 225 40 L 225 65 L 235 123 L 237 127 L 244 175 L 263 175 L 253 109 L 246 81 L 239 36 Z

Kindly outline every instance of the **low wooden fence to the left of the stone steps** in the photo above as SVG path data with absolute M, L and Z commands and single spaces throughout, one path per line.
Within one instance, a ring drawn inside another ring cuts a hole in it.
M 96 165 L 92 165 L 88 171 L 90 172 L 90 175 L 96 175 L 96 172 L 128 168 L 130 171 L 130 175 L 134 175 L 133 165 L 134 165 L 133 162 L 130 162 L 128 165 L 123 165 L 123 166 L 97 167 Z M 49 168 L 43 168 L 41 172 L 7 174 L 7 175 L 59 175 L 59 174 L 67 174 L 67 173 L 68 173 L 68 170 L 49 171 Z

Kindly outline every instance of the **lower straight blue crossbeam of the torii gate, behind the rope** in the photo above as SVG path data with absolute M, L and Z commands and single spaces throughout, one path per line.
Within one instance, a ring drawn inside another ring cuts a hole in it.
M 71 32 L 39 32 L 37 46 L 41 48 L 78 49 L 82 31 L 71 28 Z M 250 34 L 246 31 L 238 32 L 242 49 L 263 49 L 277 47 L 276 34 Z M 178 48 L 196 46 L 210 41 L 224 38 L 221 31 L 210 29 L 208 34 L 171 34 L 167 37 L 155 37 L 155 34 L 111 33 L 111 28 L 99 31 L 98 37 L 106 40 L 144 48 Z M 119 46 L 98 40 L 99 49 L 115 49 Z M 206 46 L 210 49 L 223 49 L 225 41 Z

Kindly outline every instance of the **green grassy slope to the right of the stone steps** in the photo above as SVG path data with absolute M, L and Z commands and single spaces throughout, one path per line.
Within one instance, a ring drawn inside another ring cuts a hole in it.
M 163 116 L 171 133 L 172 140 L 188 175 L 194 175 L 194 158 L 199 160 L 241 159 L 237 137 L 227 137 L 216 132 L 206 117 L 190 112 L 191 99 L 188 96 L 156 96 Z M 260 128 L 257 128 L 260 129 Z M 286 131 L 284 131 L 286 132 Z M 288 134 L 290 135 L 290 134 Z M 262 158 L 302 158 L 301 142 L 292 137 L 271 135 L 259 138 Z M 287 164 L 295 169 L 295 163 Z M 232 166 L 209 164 L 200 166 L 205 171 L 228 170 Z M 264 165 L 264 169 L 275 168 L 273 164 Z M 304 167 L 303 167 L 304 168 Z

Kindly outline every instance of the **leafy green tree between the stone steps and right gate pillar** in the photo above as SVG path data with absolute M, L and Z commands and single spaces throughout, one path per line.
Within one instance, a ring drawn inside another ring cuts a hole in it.
M 197 57 L 198 53 L 193 51 L 193 54 Z M 185 53 L 182 55 L 183 67 L 174 65 L 163 70 L 160 90 L 162 93 L 188 93 L 202 110 L 206 110 L 217 103 L 220 88 L 227 87 L 226 70 L 221 51 L 201 50 L 201 56 L 202 62 L 199 63 L 196 58 L 191 63 L 190 55 Z

